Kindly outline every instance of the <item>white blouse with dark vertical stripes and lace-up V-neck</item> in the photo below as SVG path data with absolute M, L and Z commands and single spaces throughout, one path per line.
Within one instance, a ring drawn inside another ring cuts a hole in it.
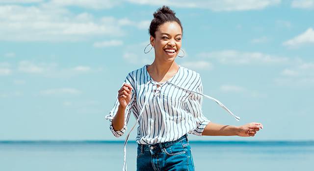
M 118 96 L 112 110 L 105 117 L 110 121 L 113 135 L 122 136 L 127 130 L 131 113 L 137 120 L 139 111 L 144 108 L 138 121 L 138 144 L 174 141 L 186 133 L 202 136 L 204 128 L 210 122 L 202 112 L 203 97 L 186 91 L 203 92 L 200 74 L 179 65 L 178 72 L 172 78 L 158 83 L 149 75 L 147 66 L 148 64 L 131 71 L 125 79 L 124 83 L 130 84 L 133 90 L 131 101 L 126 107 L 124 128 L 114 130 L 112 127 L 112 119 L 119 106 Z M 147 104 L 144 106 L 145 99 Z

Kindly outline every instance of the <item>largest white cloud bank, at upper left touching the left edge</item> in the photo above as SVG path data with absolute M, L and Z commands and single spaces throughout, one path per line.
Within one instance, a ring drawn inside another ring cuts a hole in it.
M 76 15 L 63 8 L 3 5 L 0 21 L 0 40 L 4 41 L 78 41 L 125 34 L 118 19 L 94 19 L 90 14 Z

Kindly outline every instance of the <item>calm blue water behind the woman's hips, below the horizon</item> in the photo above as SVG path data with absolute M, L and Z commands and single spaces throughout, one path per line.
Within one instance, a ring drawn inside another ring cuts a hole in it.
M 121 171 L 123 143 L 110 141 L 0 141 L 0 171 Z M 306 171 L 314 141 L 190 141 L 196 171 Z M 136 142 L 127 145 L 136 170 Z

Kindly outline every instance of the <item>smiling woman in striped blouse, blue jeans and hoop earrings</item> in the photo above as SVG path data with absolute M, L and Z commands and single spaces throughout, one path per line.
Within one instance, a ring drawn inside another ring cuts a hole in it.
M 169 7 L 163 6 L 154 13 L 149 32 L 149 45 L 155 50 L 154 62 L 127 75 L 114 107 L 106 116 L 110 120 L 110 130 L 120 137 L 125 133 L 133 112 L 139 124 L 137 171 L 194 171 L 187 133 L 248 137 L 262 128 L 260 123 L 219 125 L 203 115 L 203 86 L 199 73 L 175 62 L 181 49 L 183 28 Z M 206 97 L 239 120 L 219 101 Z M 124 150 L 126 156 L 126 148 Z M 126 170 L 126 158 L 124 162 L 123 169 Z

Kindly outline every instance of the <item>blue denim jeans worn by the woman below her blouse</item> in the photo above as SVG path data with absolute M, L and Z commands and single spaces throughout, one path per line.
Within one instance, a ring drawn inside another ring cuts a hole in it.
M 138 144 L 136 171 L 194 171 L 187 134 L 175 141 Z

